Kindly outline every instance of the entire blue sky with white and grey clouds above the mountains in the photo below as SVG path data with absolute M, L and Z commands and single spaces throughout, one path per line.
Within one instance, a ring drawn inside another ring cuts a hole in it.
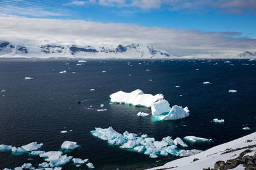
M 145 43 L 176 56 L 256 51 L 255 0 L 0 0 L 0 40 Z

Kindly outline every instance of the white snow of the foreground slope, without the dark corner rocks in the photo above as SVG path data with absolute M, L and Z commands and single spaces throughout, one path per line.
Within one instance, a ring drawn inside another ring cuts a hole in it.
M 175 170 L 198 170 L 204 168 L 214 168 L 214 164 L 219 160 L 227 162 L 230 159 L 236 159 L 241 152 L 250 149 L 250 153 L 246 155 L 256 154 L 256 132 L 244 136 L 234 141 L 224 143 L 222 145 L 214 146 L 205 152 L 191 155 L 189 157 L 183 157 L 177 160 L 173 160 L 164 164 L 164 166 L 154 167 L 149 170 L 157 169 L 175 169 Z M 236 169 L 244 169 L 242 164 L 236 167 Z

